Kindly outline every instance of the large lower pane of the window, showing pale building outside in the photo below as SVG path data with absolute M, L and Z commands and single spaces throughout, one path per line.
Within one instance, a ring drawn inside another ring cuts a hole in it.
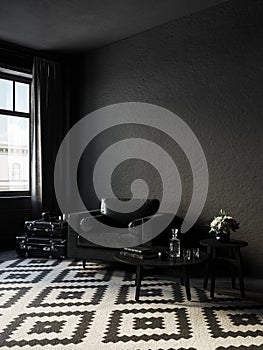
M 0 115 L 0 191 L 29 191 L 29 118 Z

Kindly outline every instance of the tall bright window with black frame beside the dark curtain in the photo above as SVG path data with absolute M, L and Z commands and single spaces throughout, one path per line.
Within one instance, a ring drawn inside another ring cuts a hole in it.
M 0 195 L 30 191 L 30 84 L 0 68 Z

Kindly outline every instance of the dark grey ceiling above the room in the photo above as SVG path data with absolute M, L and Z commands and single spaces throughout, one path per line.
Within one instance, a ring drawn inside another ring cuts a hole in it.
M 37 50 L 89 50 L 223 1 L 0 0 L 0 40 Z

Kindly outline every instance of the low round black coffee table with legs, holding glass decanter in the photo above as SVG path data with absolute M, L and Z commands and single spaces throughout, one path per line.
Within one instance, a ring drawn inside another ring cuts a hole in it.
M 195 258 L 193 260 L 187 260 L 187 261 L 184 261 L 181 258 L 176 258 L 176 260 L 162 260 L 161 258 L 158 258 L 158 257 L 152 258 L 152 259 L 139 259 L 133 256 L 122 255 L 120 252 L 116 253 L 114 255 L 114 258 L 116 261 L 119 261 L 121 263 L 136 266 L 136 278 L 135 278 L 135 286 L 136 286 L 135 300 L 136 301 L 138 301 L 140 297 L 141 281 L 143 277 L 143 269 L 145 267 L 178 269 L 180 272 L 180 276 L 183 279 L 183 284 L 185 286 L 187 299 L 191 300 L 188 268 L 189 266 L 200 264 L 207 260 L 207 255 L 205 253 L 200 252 L 200 254 L 201 255 L 199 258 Z

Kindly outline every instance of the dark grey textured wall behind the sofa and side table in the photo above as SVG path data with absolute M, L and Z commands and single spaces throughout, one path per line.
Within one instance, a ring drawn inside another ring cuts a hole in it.
M 261 276 L 262 43 L 263 2 L 235 0 L 72 59 L 72 121 L 109 104 L 141 101 L 171 110 L 192 128 L 210 175 L 199 224 L 205 227 L 220 208 L 237 218 L 241 228 L 232 236 L 249 242 L 243 250 L 245 265 Z M 183 215 L 192 190 L 184 155 L 160 133 L 135 129 L 112 130 L 90 146 L 79 172 L 89 205 L 96 205 L 88 174 L 97 155 L 114 140 L 138 133 L 160 143 L 176 160 L 183 179 Z M 131 177 L 138 175 L 132 169 L 128 164 L 116 169 L 118 195 L 129 193 Z M 138 169 L 152 193 L 160 195 L 158 174 L 144 164 Z

